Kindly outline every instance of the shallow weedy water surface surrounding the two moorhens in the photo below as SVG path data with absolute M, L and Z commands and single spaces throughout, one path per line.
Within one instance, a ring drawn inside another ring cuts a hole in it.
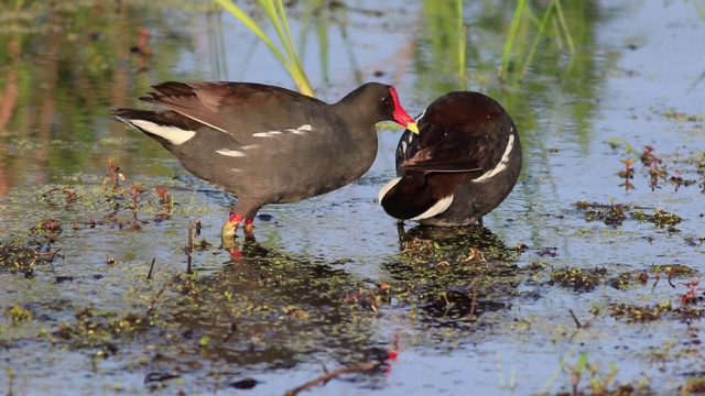
M 109 109 L 135 105 L 150 84 L 167 79 L 293 87 L 285 70 L 238 22 L 206 13 L 204 4 L 147 10 L 126 2 L 115 12 L 76 4 L 3 12 L 10 28 L 0 30 L 0 92 L 10 110 L 0 118 L 0 246 L 50 241 L 43 246 L 59 251 L 31 271 L 0 270 L 0 355 L 9 370 L 0 389 L 241 394 L 232 384 L 254 378 L 250 392 L 270 395 L 322 375 L 324 366 L 367 361 L 383 364 L 308 393 L 560 394 L 577 382 L 586 394 L 599 391 L 595 384 L 672 394 L 702 378 L 702 289 L 682 302 L 685 284 L 699 278 L 705 237 L 705 67 L 693 55 L 705 16 L 694 2 L 564 4 L 575 54 L 564 37 L 562 46 L 545 38 L 521 84 L 496 79 L 508 2 L 466 4 L 463 81 L 447 10 L 437 3 L 391 2 L 382 16 L 368 12 L 373 1 L 315 14 L 314 3 L 297 4 L 289 10 L 294 34 L 305 42 L 304 64 L 322 99 L 377 79 L 394 84 L 414 114 L 466 84 L 512 116 L 524 167 L 485 228 L 400 231 L 375 201 L 393 176 L 400 132 L 386 128 L 368 174 L 324 196 L 265 207 L 257 243 L 239 240 L 239 260 L 218 249 L 231 198 L 113 122 Z M 32 28 L 42 15 L 51 23 Z M 130 55 L 142 26 L 151 29 L 151 55 Z M 522 56 L 530 43 L 520 43 Z M 22 57 L 12 55 L 18 45 Z M 668 165 L 654 190 L 638 161 L 644 145 Z M 618 176 L 630 157 L 634 189 Z M 109 158 L 127 177 L 122 188 L 140 183 L 148 190 L 137 210 L 106 180 Z M 694 184 L 676 190 L 676 169 Z M 167 220 L 155 219 L 164 210 L 156 186 L 178 204 Z M 42 198 L 55 187 L 80 199 Z M 583 200 L 603 207 L 576 208 Z M 593 213 L 599 218 L 612 202 L 637 208 L 627 207 L 621 224 L 587 221 L 587 210 L 600 210 Z M 683 220 L 660 228 L 633 218 L 657 208 Z M 31 231 L 51 219 L 61 233 Z M 213 245 L 193 253 L 195 274 L 187 275 L 183 248 L 195 219 L 204 224 L 196 242 Z M 403 244 L 414 239 L 436 248 Z M 465 262 L 470 248 L 487 263 Z M 673 264 L 695 272 L 654 270 Z M 571 268 L 583 272 L 558 276 Z M 32 318 L 13 323 L 15 305 Z M 584 369 L 577 381 L 571 367 L 582 353 L 595 373 Z

